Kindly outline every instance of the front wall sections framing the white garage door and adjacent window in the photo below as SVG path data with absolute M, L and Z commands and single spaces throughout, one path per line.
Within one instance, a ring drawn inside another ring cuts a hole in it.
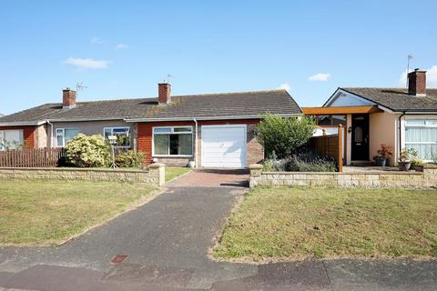
M 208 120 L 198 121 L 198 131 L 201 125 L 248 125 L 248 165 L 262 160 L 264 152 L 262 146 L 256 141 L 253 135 L 254 125 L 259 123 L 259 119 L 238 119 L 238 120 Z M 152 127 L 154 126 L 183 126 L 192 125 L 193 121 L 166 121 L 166 122 L 150 122 L 138 123 L 137 129 L 137 150 L 145 153 L 145 161 L 151 163 L 152 160 Z M 200 161 L 200 139 L 201 133 L 198 133 L 198 164 Z

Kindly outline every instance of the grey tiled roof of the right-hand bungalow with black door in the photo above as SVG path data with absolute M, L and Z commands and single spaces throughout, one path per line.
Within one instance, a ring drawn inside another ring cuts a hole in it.
M 437 88 L 427 89 L 426 96 L 408 95 L 406 88 L 340 88 L 359 95 L 392 111 L 437 111 Z

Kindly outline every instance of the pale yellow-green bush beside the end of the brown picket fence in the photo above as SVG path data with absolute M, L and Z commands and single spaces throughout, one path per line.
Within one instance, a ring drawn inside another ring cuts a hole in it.
M 76 135 L 66 146 L 66 162 L 78 167 L 108 166 L 110 147 L 102 135 Z

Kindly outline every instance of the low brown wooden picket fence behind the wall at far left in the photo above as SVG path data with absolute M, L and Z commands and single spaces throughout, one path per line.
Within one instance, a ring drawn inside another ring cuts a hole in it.
M 63 148 L 24 148 L 0 151 L 0 167 L 55 167 L 66 157 Z

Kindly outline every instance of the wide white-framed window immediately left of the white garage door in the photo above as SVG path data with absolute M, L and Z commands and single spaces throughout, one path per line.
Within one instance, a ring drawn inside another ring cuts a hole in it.
M 154 127 L 153 156 L 193 156 L 193 127 Z

